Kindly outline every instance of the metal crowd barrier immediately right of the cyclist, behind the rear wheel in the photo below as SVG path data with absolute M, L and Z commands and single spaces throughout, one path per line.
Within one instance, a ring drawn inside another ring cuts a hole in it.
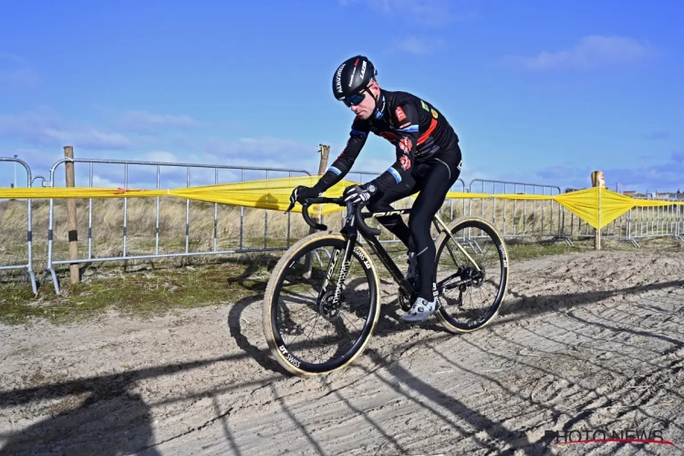
M 537 183 L 474 179 L 469 191 L 487 194 L 537 194 L 554 196 L 559 187 Z M 554 201 L 472 199 L 469 213 L 492 222 L 504 238 L 551 237 L 568 243 L 561 231 L 563 206 Z

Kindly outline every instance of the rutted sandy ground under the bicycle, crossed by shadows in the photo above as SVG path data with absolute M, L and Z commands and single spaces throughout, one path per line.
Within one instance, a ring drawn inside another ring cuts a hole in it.
M 513 264 L 501 315 L 460 336 L 434 317 L 401 324 L 395 290 L 365 354 L 323 378 L 269 358 L 261 296 L 152 320 L 0 326 L 1 451 L 682 453 L 681 255 Z M 557 444 L 587 430 L 674 445 Z

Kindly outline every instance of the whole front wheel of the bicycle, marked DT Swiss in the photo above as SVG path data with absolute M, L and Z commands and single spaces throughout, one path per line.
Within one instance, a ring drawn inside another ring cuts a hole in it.
M 343 264 L 346 245 L 338 233 L 306 236 L 275 265 L 266 287 L 264 336 L 274 358 L 295 375 L 346 367 L 366 347 L 378 322 L 375 266 L 360 244 Z

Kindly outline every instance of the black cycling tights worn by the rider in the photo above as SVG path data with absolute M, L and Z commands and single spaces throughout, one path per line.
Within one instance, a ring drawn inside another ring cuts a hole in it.
M 432 285 L 435 282 L 435 243 L 430 236 L 430 223 L 461 174 L 461 150 L 449 152 L 415 165 L 416 169 L 411 173 L 413 181 L 401 181 L 386 192 L 376 193 L 368 203 L 370 212 L 392 211 L 389 203 L 420 192 L 409 214 L 409 226 L 400 215 L 378 217 L 378 222 L 418 255 L 419 296 L 427 301 L 434 299 Z

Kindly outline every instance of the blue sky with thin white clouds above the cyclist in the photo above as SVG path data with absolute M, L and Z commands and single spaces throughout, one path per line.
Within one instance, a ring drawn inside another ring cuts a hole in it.
M 347 141 L 353 114 L 331 79 L 360 53 L 381 87 L 451 121 L 466 182 L 564 189 L 602 170 L 613 189 L 684 190 L 683 16 L 675 0 L 0 0 L 0 157 L 45 176 L 65 145 L 316 171 L 319 143 L 332 161 Z M 371 138 L 355 169 L 393 160 Z M 131 186 L 155 185 L 130 172 Z M 0 162 L 0 186 L 13 179 Z M 95 168 L 95 185 L 122 183 L 122 168 Z M 181 171 L 161 187 L 185 184 Z

